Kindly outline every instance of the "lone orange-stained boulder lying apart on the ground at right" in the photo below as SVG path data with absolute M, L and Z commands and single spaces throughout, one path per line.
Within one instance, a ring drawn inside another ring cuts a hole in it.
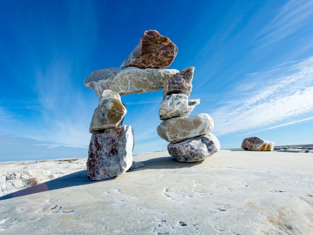
M 244 139 L 241 144 L 241 148 L 255 151 L 273 151 L 274 142 L 265 141 L 259 137 L 253 136 Z

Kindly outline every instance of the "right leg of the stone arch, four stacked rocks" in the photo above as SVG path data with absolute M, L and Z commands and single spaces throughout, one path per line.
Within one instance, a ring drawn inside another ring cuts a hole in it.
M 188 100 L 192 90 L 194 67 L 177 73 L 164 82 L 163 100 L 159 117 L 164 120 L 157 127 L 157 134 L 168 144 L 167 150 L 179 162 L 192 163 L 204 160 L 221 148 L 208 114 L 188 115 L 200 99 Z

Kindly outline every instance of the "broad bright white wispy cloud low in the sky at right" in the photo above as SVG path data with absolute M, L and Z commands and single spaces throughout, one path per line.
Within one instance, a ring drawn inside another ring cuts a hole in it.
M 286 120 L 294 124 L 301 120 L 291 121 L 291 118 L 312 112 L 313 57 L 309 57 L 246 76 L 212 117 L 216 120 L 215 133 L 223 136 L 246 130 L 278 128 L 288 125 L 277 125 Z M 305 120 L 309 119 L 302 121 Z M 273 124 L 276 125 L 270 126 Z

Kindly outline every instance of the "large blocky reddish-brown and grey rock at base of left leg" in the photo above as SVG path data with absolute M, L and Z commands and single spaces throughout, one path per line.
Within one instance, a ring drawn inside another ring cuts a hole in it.
M 106 129 L 91 136 L 88 178 L 104 180 L 125 173 L 133 164 L 134 130 L 131 126 Z

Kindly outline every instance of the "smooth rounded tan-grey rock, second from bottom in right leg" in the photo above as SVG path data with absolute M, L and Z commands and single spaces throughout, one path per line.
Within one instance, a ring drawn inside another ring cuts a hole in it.
M 167 119 L 157 127 L 157 134 L 169 142 L 179 142 L 211 132 L 213 119 L 208 114 Z

